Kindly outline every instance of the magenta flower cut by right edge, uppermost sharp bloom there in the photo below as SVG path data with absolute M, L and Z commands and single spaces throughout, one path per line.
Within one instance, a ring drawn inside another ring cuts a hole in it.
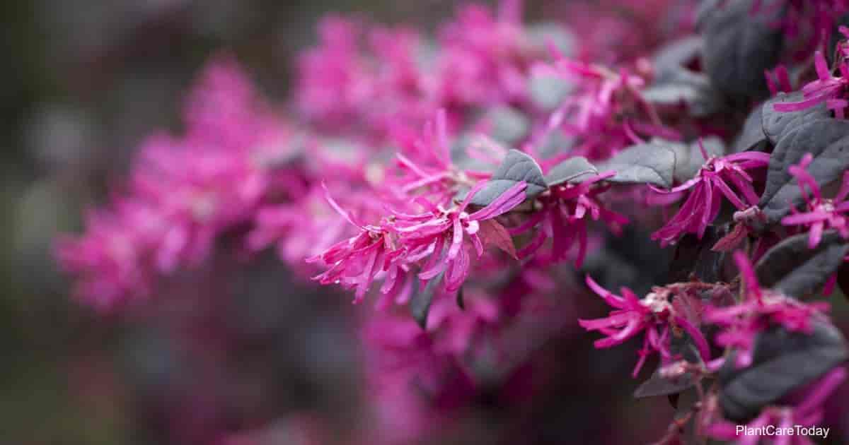
M 818 51 L 813 57 L 818 79 L 802 87 L 804 100 L 775 103 L 773 108 L 775 108 L 775 111 L 790 112 L 811 108 L 818 103 L 825 103 L 829 109 L 834 110 L 835 117 L 843 119 L 845 117 L 844 110 L 849 107 L 849 102 L 844 97 L 846 86 L 849 86 L 849 65 L 841 62 L 837 67 L 841 75 L 835 77 L 831 75 L 829 64 L 825 61 L 823 53 Z

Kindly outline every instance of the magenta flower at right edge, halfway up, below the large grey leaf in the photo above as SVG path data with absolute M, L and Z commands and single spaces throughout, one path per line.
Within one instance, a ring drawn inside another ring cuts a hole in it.
M 806 170 L 812 160 L 813 155 L 807 153 L 799 164 L 790 165 L 788 169 L 790 175 L 795 176 L 796 182 L 799 183 L 802 197 L 805 198 L 806 211 L 800 212 L 790 208 L 793 214 L 785 216 L 781 224 L 807 227 L 810 232 L 808 247 L 816 248 L 826 229 L 834 229 L 844 239 L 849 238 L 849 217 L 846 216 L 846 212 L 849 212 L 849 201 L 846 201 L 846 196 L 849 195 L 849 171 L 843 173 L 843 182 L 837 195 L 831 199 L 824 198 L 817 181 Z

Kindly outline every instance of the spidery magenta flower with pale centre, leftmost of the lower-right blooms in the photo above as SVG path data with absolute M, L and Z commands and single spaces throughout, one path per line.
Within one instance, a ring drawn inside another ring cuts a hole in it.
M 672 304 L 671 297 L 677 289 L 654 287 L 645 298 L 639 299 L 627 287 L 621 288 L 621 296 L 615 295 L 599 286 L 589 275 L 587 275 L 587 285 L 605 303 L 616 308 L 603 319 L 578 320 L 578 324 L 584 329 L 599 331 L 607 336 L 593 343 L 596 348 L 611 348 L 645 332 L 643 348 L 638 352 L 639 359 L 632 374 L 634 377 L 638 375 L 645 359 L 651 353 L 660 353 L 664 364 L 678 359 L 670 350 L 670 335 L 677 335 L 675 332 L 678 328 L 686 331 L 693 339 L 702 361 L 707 362 L 711 359 L 710 348 L 699 328 L 688 320 L 685 314 L 679 314 L 678 309 Z M 672 328 L 672 334 L 670 328 Z

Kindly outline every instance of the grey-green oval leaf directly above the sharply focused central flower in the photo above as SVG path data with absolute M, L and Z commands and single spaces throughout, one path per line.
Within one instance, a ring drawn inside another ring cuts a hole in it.
M 537 161 L 519 150 L 510 150 L 483 190 L 472 197 L 471 203 L 486 206 L 520 181 L 527 183 L 526 197 L 535 197 L 548 188 Z

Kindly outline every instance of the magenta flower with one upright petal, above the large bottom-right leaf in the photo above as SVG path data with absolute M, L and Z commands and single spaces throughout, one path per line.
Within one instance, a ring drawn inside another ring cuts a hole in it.
M 722 347 L 736 348 L 737 366 L 751 364 L 755 337 L 771 325 L 782 325 L 787 331 L 810 333 L 813 320 L 824 320 L 829 303 L 802 303 L 768 289 L 762 289 L 755 270 L 742 251 L 734 253 L 734 261 L 745 282 L 743 301 L 726 307 L 706 305 L 704 320 L 722 326 L 716 342 Z

